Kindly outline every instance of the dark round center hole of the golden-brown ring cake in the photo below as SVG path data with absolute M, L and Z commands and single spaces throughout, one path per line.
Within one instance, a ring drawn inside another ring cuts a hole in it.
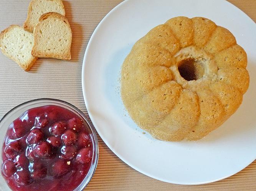
M 205 73 L 205 68 L 201 62 L 195 61 L 193 58 L 187 58 L 178 63 L 178 71 L 182 78 L 187 81 L 192 81 L 202 78 Z

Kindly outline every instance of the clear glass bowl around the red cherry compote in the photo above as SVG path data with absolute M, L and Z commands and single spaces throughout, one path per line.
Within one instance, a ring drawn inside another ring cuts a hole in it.
M 97 140 L 97 134 L 96 130 L 94 129 L 94 126 L 92 123 L 88 120 L 88 118 L 84 115 L 81 110 L 79 110 L 77 107 L 75 107 L 72 104 L 69 104 L 68 102 L 58 100 L 58 99 L 50 99 L 50 98 L 42 98 L 42 99 L 35 99 L 35 100 L 30 100 L 28 102 L 24 102 L 23 104 L 20 104 L 16 107 L 14 107 L 12 110 L 10 110 L 8 113 L 6 113 L 3 118 L 0 120 L 0 142 L 2 143 L 0 145 L 0 160 L 1 160 L 1 165 L 2 165 L 2 145 L 3 145 L 3 139 L 5 137 L 6 131 L 8 126 L 20 117 L 22 113 L 24 113 L 26 110 L 34 107 L 40 107 L 40 106 L 45 106 L 45 105 L 57 105 L 60 107 L 64 107 L 71 112 L 75 113 L 81 119 L 84 120 L 84 124 L 86 124 L 88 128 L 88 132 L 91 136 L 92 139 L 92 148 L 93 148 L 93 155 L 92 155 L 92 163 L 91 167 L 89 169 L 88 174 L 84 178 L 84 180 L 80 183 L 80 185 L 74 189 L 74 191 L 82 191 L 86 185 L 88 185 L 89 181 L 91 180 L 96 167 L 97 167 L 97 162 L 98 162 L 98 156 L 99 156 L 99 149 L 98 149 L 98 140 Z M 10 190 L 9 186 L 7 185 L 5 179 L 0 175 L 0 190 Z

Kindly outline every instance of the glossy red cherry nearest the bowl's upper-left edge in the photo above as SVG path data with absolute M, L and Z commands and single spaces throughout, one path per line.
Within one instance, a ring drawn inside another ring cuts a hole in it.
M 9 129 L 11 129 L 11 138 L 18 139 L 24 136 L 26 134 L 25 126 L 25 121 L 23 122 L 19 118 L 14 120 L 8 127 Z

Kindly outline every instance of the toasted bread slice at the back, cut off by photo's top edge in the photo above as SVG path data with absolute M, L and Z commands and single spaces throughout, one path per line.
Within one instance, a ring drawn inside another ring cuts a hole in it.
M 41 15 L 56 12 L 65 16 L 62 0 L 32 0 L 28 6 L 28 16 L 23 25 L 24 29 L 33 32 Z

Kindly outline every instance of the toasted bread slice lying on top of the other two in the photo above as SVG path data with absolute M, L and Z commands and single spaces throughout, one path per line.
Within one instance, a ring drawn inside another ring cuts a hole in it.
M 72 31 L 68 19 L 59 13 L 45 13 L 34 28 L 31 54 L 39 58 L 70 60 Z

